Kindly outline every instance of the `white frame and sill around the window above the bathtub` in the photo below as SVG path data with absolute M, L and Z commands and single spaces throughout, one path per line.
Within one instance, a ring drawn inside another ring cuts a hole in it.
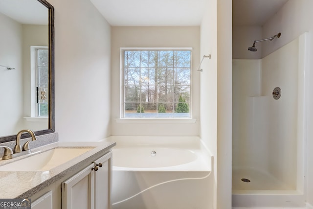
M 190 55 L 190 101 L 189 101 L 189 117 L 124 117 L 125 115 L 125 101 L 124 101 L 124 89 L 125 89 L 125 73 L 124 73 L 124 52 L 128 50 L 138 50 L 138 51 L 182 51 L 188 50 L 191 51 Z M 120 48 L 120 118 L 117 118 L 116 122 L 164 122 L 164 121 L 173 121 L 173 122 L 187 122 L 195 123 L 196 119 L 192 119 L 192 57 L 193 50 L 192 47 L 121 47 Z

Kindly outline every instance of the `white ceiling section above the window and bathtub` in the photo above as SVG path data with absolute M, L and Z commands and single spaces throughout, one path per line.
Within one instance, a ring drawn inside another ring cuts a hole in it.
M 113 26 L 200 25 L 206 0 L 90 0 Z

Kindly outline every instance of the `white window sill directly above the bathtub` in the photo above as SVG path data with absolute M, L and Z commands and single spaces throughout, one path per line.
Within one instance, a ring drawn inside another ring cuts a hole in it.
M 196 118 L 115 118 L 117 123 L 196 123 Z

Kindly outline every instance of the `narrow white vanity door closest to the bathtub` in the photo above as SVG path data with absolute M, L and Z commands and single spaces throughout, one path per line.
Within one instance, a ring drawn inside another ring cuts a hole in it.
M 112 151 L 95 161 L 95 209 L 111 209 Z M 101 167 L 100 164 L 101 163 Z

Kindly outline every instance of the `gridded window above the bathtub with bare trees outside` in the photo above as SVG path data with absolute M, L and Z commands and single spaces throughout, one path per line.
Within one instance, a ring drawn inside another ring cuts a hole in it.
M 123 49 L 124 118 L 191 118 L 191 49 Z

